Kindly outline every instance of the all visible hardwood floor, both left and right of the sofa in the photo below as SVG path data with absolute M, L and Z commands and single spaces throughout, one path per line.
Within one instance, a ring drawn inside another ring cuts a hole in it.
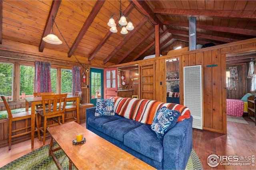
M 256 154 L 256 126 L 250 118 L 244 117 L 250 125 L 242 123 L 227 122 L 228 134 L 223 135 L 211 131 L 193 129 L 193 149 L 196 151 L 203 169 L 256 169 L 251 164 L 249 166 L 218 165 L 210 167 L 207 158 L 211 154 L 219 156 L 243 156 L 251 159 Z M 85 123 L 81 123 L 85 127 Z M 46 145 L 50 143 L 50 137 L 46 138 Z M 20 156 L 42 147 L 42 140 L 35 139 L 34 149 L 31 149 L 31 141 L 24 141 L 8 147 L 0 148 L 0 167 L 19 158 Z M 249 157 L 250 156 L 250 157 Z M 234 161 L 233 161 L 234 162 Z M 251 161 L 250 161 L 251 162 Z

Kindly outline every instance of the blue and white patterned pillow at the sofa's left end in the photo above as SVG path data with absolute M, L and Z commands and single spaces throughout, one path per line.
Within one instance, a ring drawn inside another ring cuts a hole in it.
M 113 116 L 114 99 L 97 99 L 95 116 Z

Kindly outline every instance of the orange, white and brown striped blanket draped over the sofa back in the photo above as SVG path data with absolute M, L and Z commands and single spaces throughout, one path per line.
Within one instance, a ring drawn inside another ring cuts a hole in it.
M 168 109 L 180 111 L 178 121 L 190 117 L 188 107 L 180 104 L 163 103 L 155 100 L 114 97 L 114 112 L 118 115 L 141 123 L 151 125 L 158 110 L 166 106 Z

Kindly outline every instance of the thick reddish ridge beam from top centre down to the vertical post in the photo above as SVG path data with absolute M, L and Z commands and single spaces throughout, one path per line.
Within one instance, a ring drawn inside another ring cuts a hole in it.
M 160 30 L 164 31 L 164 26 L 162 22 L 157 18 L 157 16 L 154 14 L 154 12 L 151 10 L 151 8 L 146 4 L 143 0 L 133 0 L 132 3 L 134 3 L 134 6 L 140 10 L 145 16 L 148 16 L 149 20 L 153 24 L 159 24 Z

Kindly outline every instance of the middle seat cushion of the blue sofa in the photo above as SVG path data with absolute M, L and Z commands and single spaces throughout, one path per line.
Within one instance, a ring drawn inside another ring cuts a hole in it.
M 124 134 L 141 125 L 142 123 L 138 121 L 126 119 L 123 117 L 122 119 L 104 123 L 102 132 L 118 141 L 123 142 Z

